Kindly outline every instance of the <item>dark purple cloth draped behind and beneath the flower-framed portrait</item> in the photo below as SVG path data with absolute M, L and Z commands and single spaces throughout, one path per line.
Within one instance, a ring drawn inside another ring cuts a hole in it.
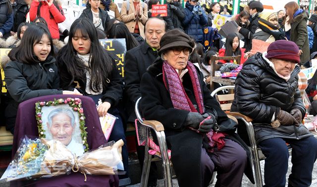
M 12 158 L 20 144 L 20 139 L 24 135 L 39 136 L 37 121 L 35 118 L 35 103 L 39 101 L 53 101 L 54 99 L 79 98 L 82 100 L 82 107 L 85 114 L 85 125 L 87 142 L 90 149 L 98 148 L 106 143 L 106 138 L 101 129 L 98 112 L 95 102 L 87 96 L 79 95 L 49 95 L 29 99 L 20 103 L 14 128 L 14 139 L 12 145 Z M 81 173 L 71 173 L 53 178 L 42 178 L 36 181 L 15 181 L 11 182 L 12 187 L 32 186 L 32 187 L 118 187 L 119 180 L 115 176 L 86 175 Z

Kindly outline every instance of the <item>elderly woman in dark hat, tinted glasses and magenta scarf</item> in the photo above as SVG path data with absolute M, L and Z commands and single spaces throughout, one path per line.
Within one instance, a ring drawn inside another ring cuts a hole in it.
M 188 62 L 195 41 L 173 29 L 159 45 L 161 58 L 141 80 L 141 109 L 146 120 L 164 125 L 179 186 L 207 187 L 215 168 L 216 186 L 240 186 L 243 172 L 250 166 L 242 147 L 245 144 L 234 129 L 221 131 L 236 123 L 211 97 L 202 73 Z M 220 131 L 215 130 L 218 127 Z M 251 170 L 246 171 L 252 177 Z

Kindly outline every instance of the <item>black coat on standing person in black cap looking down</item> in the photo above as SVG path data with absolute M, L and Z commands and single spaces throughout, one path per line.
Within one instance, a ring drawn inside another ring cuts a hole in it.
M 259 19 L 259 14 L 256 13 L 256 15 L 251 18 L 250 24 L 247 26 L 247 28 L 241 28 L 239 30 L 239 33 L 242 34 L 242 36 L 244 37 L 243 48 L 246 49 L 245 52 L 249 52 L 252 49 L 252 37 L 259 27 Z

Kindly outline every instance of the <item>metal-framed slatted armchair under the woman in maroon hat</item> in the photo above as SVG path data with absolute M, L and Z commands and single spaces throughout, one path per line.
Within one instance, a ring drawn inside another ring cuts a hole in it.
M 217 95 L 217 92 L 223 90 L 223 89 L 234 89 L 234 86 L 222 86 L 217 89 L 215 89 L 212 93 L 211 96 L 215 97 L 215 99 L 220 102 L 220 101 L 228 101 L 227 104 L 220 104 L 220 107 L 222 110 L 227 111 L 226 113 L 228 115 L 231 115 L 235 117 L 237 120 L 242 121 L 247 128 L 247 133 L 248 137 L 250 140 L 250 149 L 251 149 L 251 159 L 254 167 L 254 173 L 256 177 L 256 186 L 257 187 L 263 187 L 263 181 L 262 181 L 262 173 L 261 173 L 261 165 L 260 161 L 265 159 L 264 154 L 262 153 L 261 149 L 257 145 L 256 137 L 255 137 L 255 132 L 252 124 L 252 119 L 244 116 L 241 113 L 238 112 L 230 112 L 231 104 L 234 99 L 234 94 L 227 94 L 227 95 Z M 288 152 L 291 155 L 291 146 L 288 145 Z

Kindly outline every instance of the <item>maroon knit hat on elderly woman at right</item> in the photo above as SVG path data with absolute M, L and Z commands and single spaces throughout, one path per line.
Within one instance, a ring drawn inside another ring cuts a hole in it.
M 294 42 L 277 40 L 268 46 L 265 57 L 267 59 L 281 59 L 299 63 L 301 59 L 298 55 L 298 51 L 299 48 Z

